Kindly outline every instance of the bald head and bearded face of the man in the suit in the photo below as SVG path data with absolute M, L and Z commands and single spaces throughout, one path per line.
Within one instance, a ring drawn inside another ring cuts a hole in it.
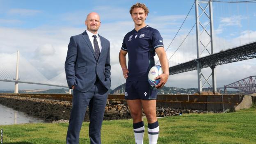
M 96 12 L 91 12 L 87 15 L 85 25 L 87 26 L 87 30 L 91 33 L 96 34 L 98 32 L 99 27 L 101 26 L 100 16 Z

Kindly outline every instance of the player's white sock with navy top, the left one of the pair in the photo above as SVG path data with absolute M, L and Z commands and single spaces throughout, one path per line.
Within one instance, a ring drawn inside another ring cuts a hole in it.
M 143 144 L 144 136 L 144 122 L 133 123 L 133 132 L 135 137 L 135 144 Z

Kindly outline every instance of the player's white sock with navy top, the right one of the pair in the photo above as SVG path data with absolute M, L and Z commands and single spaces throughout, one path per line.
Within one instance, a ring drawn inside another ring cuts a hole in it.
M 148 133 L 149 133 L 149 144 L 156 144 L 159 134 L 158 121 L 154 123 L 148 123 Z

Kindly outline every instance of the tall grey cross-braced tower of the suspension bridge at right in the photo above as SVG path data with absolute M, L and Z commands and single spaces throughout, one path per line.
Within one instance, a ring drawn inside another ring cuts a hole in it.
M 200 5 L 201 4 L 201 5 Z M 202 5 L 204 7 L 202 7 Z M 199 15 L 199 9 L 201 9 L 201 14 Z M 207 11 L 208 9 L 208 11 Z M 195 11 L 196 11 L 196 32 L 197 32 L 197 59 L 201 57 L 201 54 L 206 50 L 207 53 L 209 53 L 209 55 L 213 54 L 213 4 L 212 1 L 203 1 L 203 0 L 195 0 Z M 201 19 L 202 16 L 205 16 L 206 20 L 207 20 L 207 25 L 205 26 L 204 23 L 201 23 Z M 210 25 L 210 32 L 207 29 L 207 27 Z M 200 31 L 200 27 L 201 27 L 201 31 Z M 208 43 L 205 43 L 205 41 L 203 41 L 201 34 L 206 33 L 207 37 L 210 38 L 210 41 Z M 209 45 L 210 44 L 210 45 Z M 210 46 L 210 51 L 207 49 L 208 45 Z M 201 72 L 201 64 L 200 62 L 197 62 L 197 82 L 198 82 L 198 91 L 199 93 L 202 91 L 202 88 L 204 87 L 204 85 L 206 84 L 206 82 L 208 83 L 208 85 L 210 85 L 210 87 L 213 88 L 213 93 L 215 93 L 217 91 L 217 87 L 216 87 L 216 76 L 215 76 L 215 65 L 211 65 L 210 68 L 212 70 L 212 73 L 210 74 L 210 76 L 208 78 L 206 78 L 203 73 Z M 212 84 L 210 84 L 210 82 L 208 81 L 209 78 L 212 77 Z M 202 78 L 204 78 L 206 80 L 206 82 L 204 82 L 204 84 L 202 85 Z

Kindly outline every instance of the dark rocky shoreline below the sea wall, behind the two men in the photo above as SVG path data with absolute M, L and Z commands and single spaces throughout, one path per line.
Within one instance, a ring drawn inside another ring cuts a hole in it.
M 21 96 L 0 96 L 0 104 L 11 107 L 14 110 L 25 112 L 46 122 L 67 122 L 69 120 L 72 103 L 70 101 L 58 101 L 41 98 Z M 203 110 L 177 110 L 170 107 L 157 107 L 157 117 L 176 116 L 183 113 L 206 113 Z M 130 119 L 128 106 L 120 101 L 107 102 L 104 120 Z M 89 110 L 87 109 L 85 121 L 89 121 Z

